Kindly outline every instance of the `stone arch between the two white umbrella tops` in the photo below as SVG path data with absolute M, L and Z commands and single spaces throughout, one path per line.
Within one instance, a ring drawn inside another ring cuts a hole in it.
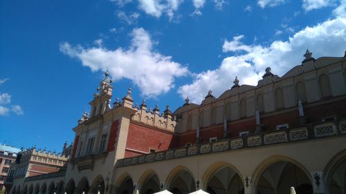
M 166 188 L 174 194 L 185 194 L 196 191 L 192 172 L 185 166 L 176 166 L 166 179 Z

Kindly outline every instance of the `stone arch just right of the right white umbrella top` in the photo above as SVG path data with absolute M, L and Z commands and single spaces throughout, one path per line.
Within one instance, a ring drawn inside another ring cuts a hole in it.
M 227 162 L 217 162 L 209 166 L 202 180 L 202 188 L 208 193 L 244 193 L 242 174 Z

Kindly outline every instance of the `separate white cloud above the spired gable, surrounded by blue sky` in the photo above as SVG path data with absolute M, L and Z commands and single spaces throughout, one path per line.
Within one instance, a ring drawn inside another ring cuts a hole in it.
M 131 79 L 145 97 L 156 97 L 174 87 L 174 79 L 188 74 L 188 68 L 172 61 L 172 57 L 152 51 L 153 42 L 143 28 L 135 28 L 128 50 L 118 48 L 73 47 L 61 43 L 60 50 L 82 61 L 92 71 L 108 69 L 113 79 Z

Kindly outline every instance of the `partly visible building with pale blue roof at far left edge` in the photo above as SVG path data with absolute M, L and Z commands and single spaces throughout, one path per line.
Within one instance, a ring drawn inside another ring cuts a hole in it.
M 0 190 L 3 189 L 3 182 L 6 180 L 10 164 L 15 161 L 17 153 L 21 151 L 19 148 L 0 144 Z

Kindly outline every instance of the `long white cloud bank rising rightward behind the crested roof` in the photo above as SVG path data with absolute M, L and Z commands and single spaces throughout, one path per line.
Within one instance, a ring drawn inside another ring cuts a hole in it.
M 226 57 L 215 70 L 194 75 L 192 84 L 181 86 L 178 93 L 199 104 L 210 89 L 216 97 L 228 90 L 233 86 L 235 76 L 238 76 L 240 84 L 256 86 L 266 67 L 271 66 L 274 74 L 282 76 L 301 63 L 307 48 L 316 58 L 343 56 L 346 48 L 345 29 L 346 19 L 338 17 L 306 27 L 289 37 L 288 41 L 273 41 L 269 46 L 245 45 L 241 41 L 243 35 L 233 37 L 232 41 L 225 40 L 223 51 L 236 52 L 235 55 Z

